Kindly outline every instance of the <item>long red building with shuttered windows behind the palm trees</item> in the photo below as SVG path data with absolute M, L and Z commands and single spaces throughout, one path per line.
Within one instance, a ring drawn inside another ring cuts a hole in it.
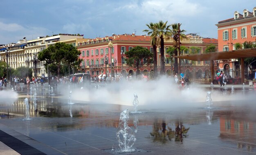
M 137 69 L 132 66 L 127 66 L 125 62 L 125 52 L 132 49 L 135 46 L 142 46 L 153 52 L 153 47 L 150 44 L 150 36 L 123 34 L 115 35 L 105 38 L 88 39 L 85 44 L 79 44 L 77 47 L 81 51 L 80 58 L 83 59 L 81 63 L 81 71 L 90 73 L 92 77 L 103 75 L 112 76 L 120 75 L 126 76 L 128 74 L 135 75 Z M 109 43 L 112 43 L 112 48 L 109 47 Z M 202 38 L 195 35 L 187 35 L 187 38 L 181 41 L 182 46 L 190 49 L 191 47 L 198 47 L 198 53 L 203 53 L 206 46 L 213 44 L 218 48 L 218 40 L 213 38 Z M 173 40 L 165 40 L 164 42 L 164 57 L 165 57 L 165 72 L 171 75 L 174 70 L 173 61 L 170 59 L 170 55 L 166 53 L 169 46 L 173 46 Z M 157 65 L 158 71 L 160 70 L 160 48 L 157 47 Z M 111 51 L 111 53 L 110 53 Z M 182 53 L 182 54 L 189 54 Z M 107 61 L 106 61 L 107 60 Z M 111 63 L 110 63 L 111 62 Z M 194 66 L 192 64 L 195 64 Z M 197 76 L 202 78 L 210 75 L 209 62 L 191 62 L 190 60 L 182 61 L 179 65 L 182 70 L 188 76 Z M 112 68 L 112 69 L 111 69 Z M 150 74 L 153 71 L 153 64 L 146 64 L 139 68 L 139 74 Z M 196 75 L 193 75 L 193 72 Z

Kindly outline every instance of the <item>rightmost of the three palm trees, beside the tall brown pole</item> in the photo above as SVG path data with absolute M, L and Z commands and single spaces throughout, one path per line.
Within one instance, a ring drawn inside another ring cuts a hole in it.
M 180 24 L 181 26 L 181 24 Z M 177 34 L 179 31 L 179 26 L 177 23 L 172 24 L 172 34 L 173 34 L 173 47 L 175 48 L 174 50 L 174 56 L 178 55 L 178 44 L 179 44 L 179 40 L 177 38 Z M 180 40 L 182 40 L 183 38 L 186 38 L 186 35 L 184 34 L 186 31 L 185 30 L 180 30 Z M 178 73 L 178 58 L 174 58 L 174 71 L 175 73 Z

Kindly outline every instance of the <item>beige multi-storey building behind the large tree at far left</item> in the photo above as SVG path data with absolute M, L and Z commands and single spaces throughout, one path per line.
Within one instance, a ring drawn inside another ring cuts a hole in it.
M 40 51 L 43 51 L 45 48 L 47 48 L 47 46 L 53 45 L 56 42 L 65 42 L 67 44 L 77 46 L 86 40 L 87 39 L 83 39 L 83 36 L 67 34 L 54 35 L 50 37 L 38 37 L 37 39 L 33 40 L 26 40 L 26 38 L 24 38 L 15 44 L 0 46 L 0 60 L 7 62 L 7 50 L 8 66 L 11 69 L 27 66 L 28 68 L 33 69 L 33 76 L 37 75 L 48 77 L 45 69 L 45 62 L 37 60 L 37 54 Z

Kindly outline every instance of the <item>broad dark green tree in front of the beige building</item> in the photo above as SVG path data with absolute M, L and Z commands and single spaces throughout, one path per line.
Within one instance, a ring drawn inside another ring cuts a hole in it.
M 63 66 L 72 65 L 72 67 L 79 67 L 82 62 L 79 59 L 81 52 L 76 49 L 72 44 L 65 44 L 63 42 L 57 42 L 54 45 L 50 45 L 48 48 L 39 52 L 38 59 L 40 61 L 46 61 L 46 66 L 49 65 L 49 70 L 51 67 L 57 67 L 57 75 L 60 78 L 61 69 Z

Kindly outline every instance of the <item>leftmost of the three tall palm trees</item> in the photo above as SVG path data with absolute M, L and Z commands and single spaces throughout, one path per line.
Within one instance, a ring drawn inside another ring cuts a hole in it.
M 158 38 L 157 38 L 157 34 L 156 34 L 156 24 L 153 22 L 150 22 L 149 24 L 146 24 L 146 26 L 148 27 L 148 30 L 143 30 L 143 32 L 148 33 L 148 35 L 150 35 L 151 40 L 150 43 L 153 46 L 153 64 L 154 64 L 154 78 L 157 78 L 157 42 L 158 42 Z

